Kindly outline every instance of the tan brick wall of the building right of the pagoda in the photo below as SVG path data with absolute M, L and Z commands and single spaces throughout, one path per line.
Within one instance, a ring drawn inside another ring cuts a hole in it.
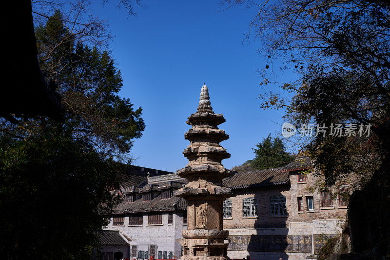
M 246 188 L 233 190 L 235 196 L 229 198 L 232 200 L 232 218 L 223 220 L 224 229 L 230 231 L 230 236 L 236 236 L 239 240 L 249 241 L 249 237 L 269 236 L 270 238 L 285 237 L 291 238 L 309 238 L 311 253 L 299 253 L 291 251 L 283 252 L 261 252 L 261 250 L 238 249 L 229 250 L 228 256 L 231 259 L 248 258 L 250 260 L 278 260 L 282 259 L 304 259 L 306 256 L 314 254 L 314 248 L 319 235 L 333 235 L 341 231 L 341 225 L 347 213 L 346 206 L 320 206 L 318 189 L 309 189 L 318 180 L 309 174 L 306 181 L 298 182 L 298 172 L 290 175 L 290 184 Z M 270 216 L 270 197 L 285 196 L 287 203 L 287 216 L 273 217 Z M 302 197 L 302 211 L 298 211 L 298 197 Z M 307 198 L 313 198 L 313 210 L 307 208 Z M 257 198 L 257 217 L 243 217 L 243 199 Z M 249 244 L 249 242 L 248 242 Z M 253 244 L 251 244 L 253 246 Z M 248 247 L 249 248 L 249 247 Z M 295 245 L 293 246 L 295 248 Z

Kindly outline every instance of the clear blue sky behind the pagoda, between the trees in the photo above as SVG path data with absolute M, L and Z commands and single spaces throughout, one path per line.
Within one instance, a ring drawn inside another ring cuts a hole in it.
M 254 10 L 245 6 L 221 12 L 218 0 L 143 0 L 137 17 L 118 10 L 117 1 L 95 5 L 116 36 L 111 45 L 123 76 L 120 96 L 143 109 L 146 129 L 134 142 L 133 164 L 175 172 L 188 160 L 185 123 L 196 112 L 203 82 L 209 88 L 219 125 L 232 155 L 226 168 L 254 158 L 252 148 L 269 133 L 280 133 L 284 111 L 262 110 L 256 68 L 266 63 L 256 52 L 260 41 L 244 42 Z M 279 79 L 287 73 L 274 71 Z M 287 79 L 288 80 L 288 79 Z

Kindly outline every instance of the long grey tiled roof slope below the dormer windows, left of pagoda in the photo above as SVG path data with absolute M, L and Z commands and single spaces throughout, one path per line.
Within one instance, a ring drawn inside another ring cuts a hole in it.
M 176 196 L 161 200 L 160 194 L 150 201 L 142 201 L 142 198 L 137 198 L 134 202 L 122 201 L 114 209 L 114 214 L 187 209 L 187 205 L 183 206 L 183 203 L 187 204 L 187 201 L 179 200 L 181 200 L 181 198 Z

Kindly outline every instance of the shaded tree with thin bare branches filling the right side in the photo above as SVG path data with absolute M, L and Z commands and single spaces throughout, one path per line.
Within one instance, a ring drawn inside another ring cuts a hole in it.
M 302 146 L 325 176 L 324 185 L 351 173 L 367 180 L 350 200 L 352 250 L 390 257 L 390 2 L 223 2 L 256 8 L 247 36 L 255 32 L 268 57 L 260 85 L 277 83 L 285 91 L 260 95 L 262 107 L 286 108 L 285 119 L 295 126 L 314 125 L 314 136 Z M 297 80 L 276 81 L 272 65 L 280 60 Z M 337 124 L 341 135 L 335 134 Z

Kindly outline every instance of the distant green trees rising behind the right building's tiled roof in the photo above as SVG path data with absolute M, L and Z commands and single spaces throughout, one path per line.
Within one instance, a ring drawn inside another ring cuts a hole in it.
M 289 155 L 285 149 L 282 140 L 278 137 L 272 138 L 271 134 L 267 138 L 263 138 L 262 142 L 255 145 L 255 157 L 253 160 L 247 160 L 245 163 L 234 166 L 233 171 L 249 172 L 254 170 L 269 169 L 275 167 L 283 167 L 293 160 L 293 156 Z

